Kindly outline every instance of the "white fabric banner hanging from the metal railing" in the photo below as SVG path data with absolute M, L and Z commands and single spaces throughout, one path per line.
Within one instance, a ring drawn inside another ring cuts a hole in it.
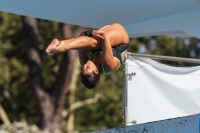
M 125 61 L 124 93 L 125 125 L 198 114 L 200 66 L 172 67 L 129 57 Z

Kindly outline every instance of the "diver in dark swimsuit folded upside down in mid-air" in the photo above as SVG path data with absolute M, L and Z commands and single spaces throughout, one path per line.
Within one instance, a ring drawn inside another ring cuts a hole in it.
M 54 39 L 46 48 L 46 53 L 64 52 L 76 49 L 79 53 L 81 82 L 87 88 L 94 88 L 100 74 L 111 74 L 122 65 L 128 49 L 129 37 L 121 24 L 106 25 L 99 30 L 86 30 L 77 38 Z M 91 53 L 88 56 L 88 53 Z

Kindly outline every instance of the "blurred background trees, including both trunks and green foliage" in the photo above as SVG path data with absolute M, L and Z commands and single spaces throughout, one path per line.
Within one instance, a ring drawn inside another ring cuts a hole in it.
M 63 132 L 122 126 L 122 67 L 114 74 L 102 76 L 98 87 L 88 90 L 79 80 L 76 51 L 48 56 L 41 50 L 52 39 L 76 37 L 85 28 L 0 12 L 0 109 L 5 111 L 7 123 L 23 121 Z M 200 40 L 169 36 L 132 38 L 128 51 L 200 58 Z M 5 121 L 1 116 L 0 124 Z

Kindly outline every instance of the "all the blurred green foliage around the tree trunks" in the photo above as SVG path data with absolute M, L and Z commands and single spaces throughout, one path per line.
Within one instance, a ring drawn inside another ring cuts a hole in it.
M 41 49 L 45 49 L 53 38 L 62 39 L 60 23 L 40 19 L 37 26 L 40 34 L 36 44 Z M 74 28 L 75 26 L 71 25 L 72 31 Z M 36 124 L 39 118 L 33 92 L 30 89 L 26 48 L 21 17 L 0 12 L 0 103 L 11 122 L 26 121 L 29 124 Z M 42 50 L 38 49 L 38 52 L 43 64 L 44 84 L 50 89 L 57 80 L 64 53 L 47 56 Z M 129 52 L 200 58 L 200 40 L 169 36 L 133 38 L 130 39 Z M 194 65 L 162 62 L 175 66 Z M 100 94 L 100 99 L 95 104 L 75 110 L 75 130 L 95 131 L 122 126 L 122 79 L 123 67 L 114 74 L 102 76 L 94 90 L 86 89 L 80 80 L 77 81 L 75 102 L 92 98 L 96 94 Z M 68 109 L 69 106 L 67 99 L 64 108 Z M 68 117 L 63 117 L 64 127 L 67 120 Z M 2 123 L 0 120 L 0 124 Z

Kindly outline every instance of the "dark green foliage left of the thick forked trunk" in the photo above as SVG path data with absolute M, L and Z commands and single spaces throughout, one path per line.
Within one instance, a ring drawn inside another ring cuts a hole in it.
M 34 116 L 34 110 L 22 111 L 34 105 L 29 98 L 31 91 L 27 90 L 28 66 L 22 32 L 19 16 L 0 12 L 0 102 L 12 122 L 19 118 L 37 120 L 26 117 Z

